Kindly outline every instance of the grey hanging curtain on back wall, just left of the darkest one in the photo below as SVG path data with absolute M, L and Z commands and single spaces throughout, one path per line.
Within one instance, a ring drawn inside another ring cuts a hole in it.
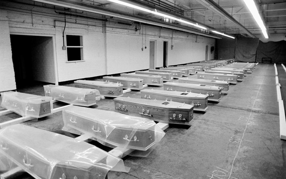
M 235 44 L 236 61 L 255 62 L 259 38 L 240 37 Z

